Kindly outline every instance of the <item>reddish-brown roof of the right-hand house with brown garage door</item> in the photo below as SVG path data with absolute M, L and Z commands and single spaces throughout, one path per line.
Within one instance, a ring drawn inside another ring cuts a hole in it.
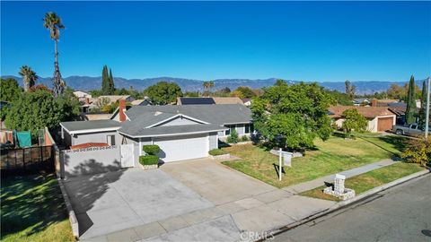
M 394 115 L 388 107 L 361 107 L 361 106 L 332 106 L 329 108 L 330 117 L 342 117 L 347 109 L 355 108 L 365 118 L 372 119 L 379 116 Z

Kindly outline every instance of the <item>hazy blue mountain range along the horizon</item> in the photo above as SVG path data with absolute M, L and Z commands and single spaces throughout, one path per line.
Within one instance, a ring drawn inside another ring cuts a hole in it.
M 12 77 L 22 85 L 22 78 L 18 76 L 6 75 L 2 78 Z M 214 90 L 228 87 L 231 90 L 236 89 L 239 86 L 249 86 L 251 88 L 261 88 L 266 86 L 272 86 L 276 82 L 277 78 L 268 79 L 218 79 L 214 80 Z M 91 76 L 78 76 L 73 75 L 65 78 L 66 84 L 75 90 L 90 91 L 101 88 L 101 77 Z M 122 77 L 114 77 L 116 88 L 133 87 L 136 90 L 144 90 L 146 87 L 153 85 L 156 82 L 176 82 L 180 85 L 183 91 L 202 91 L 202 82 L 200 80 L 184 79 L 184 78 L 173 78 L 173 77 L 156 77 L 156 78 L 145 78 L 145 79 L 126 79 Z M 288 80 L 287 82 L 295 83 L 298 81 Z M 417 84 L 422 87 L 423 80 L 418 80 Z M 48 87 L 52 87 L 51 78 L 40 77 L 37 83 L 43 83 Z M 352 82 L 356 86 L 357 94 L 374 93 L 375 91 L 386 91 L 392 83 L 404 85 L 406 82 L 379 82 L 379 81 L 361 81 Z M 344 82 L 320 82 L 321 86 L 330 90 L 344 91 Z

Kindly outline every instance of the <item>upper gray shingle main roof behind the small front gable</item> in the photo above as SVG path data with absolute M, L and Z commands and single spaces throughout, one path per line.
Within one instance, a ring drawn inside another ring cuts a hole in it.
M 126 112 L 131 121 L 142 124 L 145 114 L 151 115 L 154 112 L 163 114 L 182 114 L 194 117 L 210 124 L 227 125 L 251 122 L 251 110 L 241 104 L 220 104 L 220 105 L 165 105 L 165 106 L 135 106 Z M 151 124 L 149 124 L 151 125 Z M 147 125 L 146 125 L 147 126 Z

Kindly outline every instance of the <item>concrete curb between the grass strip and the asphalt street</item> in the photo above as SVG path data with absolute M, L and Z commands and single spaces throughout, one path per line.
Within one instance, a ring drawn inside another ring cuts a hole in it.
M 321 212 L 316 212 L 316 213 L 314 213 L 314 214 L 312 214 L 312 215 L 310 215 L 310 216 L 308 216 L 306 218 L 303 218 L 302 220 L 297 220 L 297 221 L 295 221 L 293 223 L 287 224 L 287 225 L 285 225 L 283 227 L 280 227 L 278 229 L 268 230 L 267 233 L 275 236 L 277 234 L 281 234 L 283 232 L 286 232 L 287 230 L 295 229 L 295 227 L 298 227 L 298 226 L 300 226 L 300 225 L 302 225 L 304 223 L 307 223 L 307 222 L 309 222 L 311 220 L 315 220 L 315 219 L 321 218 L 321 217 L 323 217 L 325 215 L 330 214 L 331 212 L 336 212 L 336 211 L 338 211 L 338 210 L 340 210 L 340 209 L 342 209 L 344 207 L 347 207 L 348 205 L 350 205 L 352 203 L 358 203 L 358 202 L 360 202 L 362 200 L 365 200 L 365 198 L 367 198 L 367 197 L 369 197 L 369 196 L 371 196 L 373 194 L 380 193 L 383 190 L 391 188 L 392 186 L 400 185 L 401 183 L 405 183 L 405 182 L 407 182 L 407 181 L 409 181 L 411 179 L 417 178 L 417 177 L 422 177 L 422 176 L 427 175 L 429 173 L 431 173 L 431 169 L 425 169 L 425 170 L 421 170 L 419 172 L 413 173 L 413 174 L 411 174 L 411 175 L 409 175 L 407 177 L 401 177 L 400 179 L 397 179 L 397 180 L 394 180 L 394 181 L 392 181 L 390 183 L 384 184 L 383 186 L 374 187 L 373 189 L 365 192 L 364 194 L 357 195 L 357 196 L 355 196 L 352 199 L 348 199 L 346 201 L 341 201 L 339 203 L 336 203 L 335 205 L 331 206 L 330 208 L 325 209 L 325 210 L 323 210 Z M 256 241 L 263 241 L 263 240 L 264 239 L 258 239 Z

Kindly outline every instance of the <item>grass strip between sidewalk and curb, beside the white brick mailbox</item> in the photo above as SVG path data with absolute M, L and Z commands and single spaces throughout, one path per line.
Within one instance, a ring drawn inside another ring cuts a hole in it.
M 368 190 L 373 189 L 377 186 L 390 183 L 401 177 L 409 176 L 410 174 L 416 173 L 423 170 L 424 168 L 418 166 L 418 164 L 397 162 L 391 166 L 387 166 L 381 169 L 374 169 L 356 177 L 350 177 L 346 179 L 345 186 L 355 190 L 356 195 L 365 193 Z M 305 196 L 310 196 L 319 199 L 339 201 L 338 198 L 329 194 L 323 194 L 325 186 L 320 186 L 309 191 L 301 193 Z

